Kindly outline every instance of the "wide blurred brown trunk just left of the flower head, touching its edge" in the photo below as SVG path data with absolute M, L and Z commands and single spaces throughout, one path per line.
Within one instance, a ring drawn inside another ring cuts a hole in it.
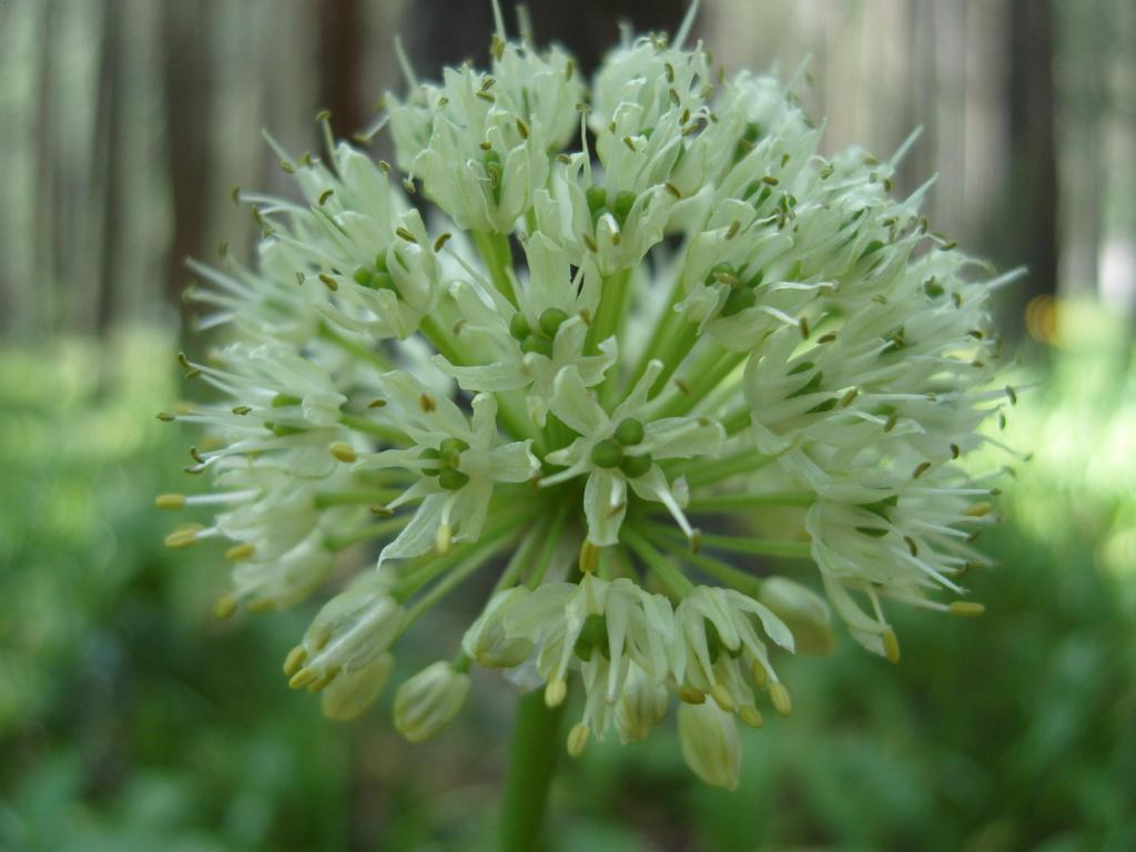
M 172 236 L 165 292 L 181 303 L 186 282 L 185 259 L 206 251 L 210 190 L 210 40 L 211 0 L 162 6 L 166 133 Z

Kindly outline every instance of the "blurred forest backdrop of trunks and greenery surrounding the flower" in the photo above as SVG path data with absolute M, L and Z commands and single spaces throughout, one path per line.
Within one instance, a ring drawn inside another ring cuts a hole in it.
M 529 5 L 594 65 L 674 0 Z M 903 618 L 899 667 L 842 641 L 792 661 L 797 710 L 745 738 L 728 794 L 673 727 L 593 745 L 553 790 L 553 850 L 1136 849 L 1136 5 L 704 0 L 727 69 L 809 62 L 827 151 L 924 135 L 900 191 L 1030 274 L 999 306 L 1022 394 L 976 578 L 977 621 Z M 0 0 L 0 849 L 477 850 L 511 694 L 478 675 L 437 740 L 387 702 L 325 721 L 278 663 L 310 610 L 217 623 L 218 553 L 161 546 L 154 494 L 190 435 L 160 428 L 200 351 L 186 256 L 248 257 L 235 185 L 287 192 L 260 131 L 316 149 L 402 82 L 484 61 L 481 0 Z M 384 156 L 382 142 L 376 156 Z M 358 554 L 365 560 L 366 553 Z M 408 643 L 403 674 L 463 616 Z

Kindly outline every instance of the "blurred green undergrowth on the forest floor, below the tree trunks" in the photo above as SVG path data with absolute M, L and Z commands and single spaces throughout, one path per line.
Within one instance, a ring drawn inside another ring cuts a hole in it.
M 1136 394 L 1119 329 L 1068 308 L 1062 335 L 1003 436 L 1037 452 L 984 538 L 986 615 L 897 612 L 895 667 L 846 637 L 783 663 L 794 713 L 746 734 L 736 793 L 673 728 L 562 758 L 551 849 L 1136 846 Z M 501 684 L 420 746 L 385 709 L 327 722 L 274 662 L 303 613 L 218 624 L 219 553 L 161 548 L 174 375 L 153 335 L 0 354 L 0 849 L 487 849 Z

